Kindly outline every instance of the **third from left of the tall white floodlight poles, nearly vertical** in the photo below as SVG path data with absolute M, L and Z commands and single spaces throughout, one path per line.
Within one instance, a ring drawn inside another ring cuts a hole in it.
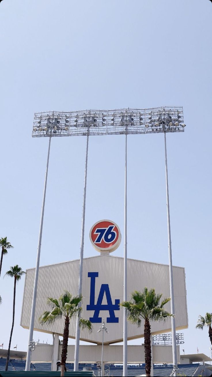
M 126 126 L 127 127 L 127 126 Z M 124 183 L 124 301 L 128 299 L 127 290 L 127 129 L 125 135 L 125 183 Z M 123 313 L 123 376 L 128 375 L 128 323 L 126 308 Z

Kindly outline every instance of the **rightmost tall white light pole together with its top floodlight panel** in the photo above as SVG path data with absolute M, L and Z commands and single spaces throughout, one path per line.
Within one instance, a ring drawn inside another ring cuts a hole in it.
M 149 133 L 164 133 L 165 146 L 165 170 L 166 170 L 166 206 L 167 206 L 167 227 L 168 227 L 168 249 L 169 249 L 169 285 L 171 296 L 171 314 L 175 314 L 174 306 L 174 285 L 173 285 L 173 268 L 172 268 L 172 246 L 171 246 L 171 226 L 169 211 L 169 185 L 167 170 L 167 152 L 166 152 L 166 133 L 182 132 L 185 124 L 183 123 L 183 109 L 179 107 L 163 107 L 146 110 L 146 129 Z M 171 317 L 172 324 L 172 358 L 173 372 L 177 376 L 177 340 L 175 317 Z

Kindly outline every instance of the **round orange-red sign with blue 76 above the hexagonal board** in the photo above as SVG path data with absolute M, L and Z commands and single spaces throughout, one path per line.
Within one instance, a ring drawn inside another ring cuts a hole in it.
M 100 220 L 92 226 L 90 240 L 95 250 L 111 253 L 121 243 L 121 232 L 114 221 Z

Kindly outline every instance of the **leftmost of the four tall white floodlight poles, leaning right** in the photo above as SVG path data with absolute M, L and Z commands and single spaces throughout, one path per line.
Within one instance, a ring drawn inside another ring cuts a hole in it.
M 42 208 L 41 208 L 40 230 L 39 230 L 39 237 L 38 237 L 37 261 L 36 261 L 36 267 L 35 267 L 35 280 L 34 280 L 34 289 L 33 289 L 33 296 L 32 296 L 32 308 L 31 308 L 31 316 L 30 316 L 30 324 L 29 324 L 28 345 L 30 344 L 30 342 L 32 342 L 34 322 L 35 322 L 35 306 L 36 306 L 36 298 L 37 298 L 38 272 L 39 272 L 39 264 L 40 264 L 40 249 L 41 249 L 41 240 L 42 240 L 42 232 L 43 232 L 43 216 L 44 216 L 45 199 L 46 199 L 46 184 L 47 184 L 48 167 L 49 167 L 50 145 L 51 145 L 51 136 L 49 136 L 49 147 L 48 147 L 46 173 L 45 173 L 44 190 L 43 190 L 43 202 L 42 202 Z M 28 346 L 28 351 L 27 351 L 27 356 L 26 356 L 25 370 L 26 371 L 30 370 L 29 346 Z

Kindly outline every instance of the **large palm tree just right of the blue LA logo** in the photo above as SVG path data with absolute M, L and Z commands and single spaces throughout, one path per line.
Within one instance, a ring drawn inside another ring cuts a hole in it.
M 144 354 L 146 375 L 151 373 L 151 325 L 150 321 L 165 321 L 172 314 L 164 310 L 164 305 L 171 300 L 170 297 L 160 302 L 162 294 L 156 294 L 154 288 L 143 292 L 131 293 L 132 301 L 123 301 L 120 305 L 126 308 L 126 315 L 131 323 L 141 326 L 144 320 Z

